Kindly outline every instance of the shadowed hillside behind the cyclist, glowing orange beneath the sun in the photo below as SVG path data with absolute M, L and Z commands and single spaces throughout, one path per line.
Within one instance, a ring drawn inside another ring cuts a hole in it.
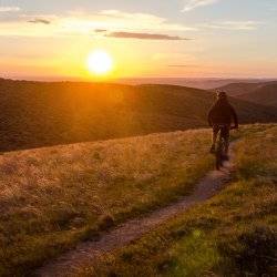
M 213 101 L 172 85 L 0 80 L 0 151 L 206 126 Z M 277 109 L 232 102 L 242 122 L 277 121 Z

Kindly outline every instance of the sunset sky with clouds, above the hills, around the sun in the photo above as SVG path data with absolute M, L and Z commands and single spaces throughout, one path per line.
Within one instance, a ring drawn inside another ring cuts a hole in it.
M 277 78 L 277 0 L 0 0 L 0 76 Z

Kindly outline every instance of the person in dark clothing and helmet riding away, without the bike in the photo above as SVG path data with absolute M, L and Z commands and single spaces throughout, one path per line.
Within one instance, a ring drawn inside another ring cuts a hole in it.
M 234 123 L 234 127 L 230 126 L 232 123 Z M 228 102 L 227 94 L 223 91 L 217 92 L 217 101 L 208 112 L 208 124 L 209 126 L 213 126 L 213 142 L 211 153 L 215 153 L 215 143 L 220 130 L 220 125 L 225 126 L 223 131 L 224 153 L 226 160 L 228 160 L 229 130 L 238 129 L 238 120 L 235 109 Z

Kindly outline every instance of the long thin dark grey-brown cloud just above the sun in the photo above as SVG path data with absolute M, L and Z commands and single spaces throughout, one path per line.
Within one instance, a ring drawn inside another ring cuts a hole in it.
M 117 38 L 117 39 L 138 39 L 138 40 L 189 40 L 187 38 L 181 38 L 170 34 L 136 33 L 136 32 L 111 32 L 105 37 Z

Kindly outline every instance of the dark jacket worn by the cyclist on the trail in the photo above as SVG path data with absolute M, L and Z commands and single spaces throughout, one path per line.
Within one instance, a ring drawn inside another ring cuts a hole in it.
M 211 107 L 208 112 L 208 124 L 228 124 L 234 122 L 235 126 L 238 126 L 238 120 L 235 109 L 229 104 L 227 99 L 219 99 Z

